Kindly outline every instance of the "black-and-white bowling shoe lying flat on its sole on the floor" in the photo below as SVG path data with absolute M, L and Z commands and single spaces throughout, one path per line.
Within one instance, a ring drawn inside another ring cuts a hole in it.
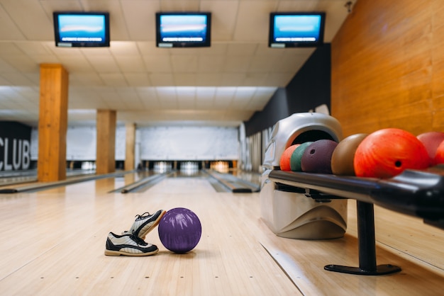
M 159 251 L 154 244 L 148 244 L 134 234 L 118 235 L 110 232 L 106 238 L 106 256 L 150 256 Z

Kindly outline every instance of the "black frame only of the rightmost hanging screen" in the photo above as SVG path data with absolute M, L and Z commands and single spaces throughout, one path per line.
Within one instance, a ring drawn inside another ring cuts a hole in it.
M 275 22 L 275 16 L 320 16 L 321 17 L 321 23 L 319 24 L 319 38 L 315 41 L 284 41 L 284 42 L 276 42 L 274 41 L 274 28 L 276 26 Z M 274 12 L 270 13 L 270 28 L 269 28 L 269 35 L 268 35 L 268 46 L 269 47 L 277 47 L 277 48 L 284 48 L 284 47 L 319 47 L 322 46 L 323 36 L 324 36 L 324 30 L 325 30 L 325 23 L 326 23 L 326 13 L 325 12 Z

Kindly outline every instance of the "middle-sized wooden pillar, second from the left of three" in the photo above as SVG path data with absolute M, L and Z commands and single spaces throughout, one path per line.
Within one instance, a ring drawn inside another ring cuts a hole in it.
M 96 173 L 116 171 L 116 111 L 97 110 Z

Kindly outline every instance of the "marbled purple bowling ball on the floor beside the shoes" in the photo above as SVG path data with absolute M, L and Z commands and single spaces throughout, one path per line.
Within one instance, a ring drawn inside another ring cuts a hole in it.
M 159 238 L 165 248 L 184 254 L 199 243 L 202 234 L 201 221 L 192 211 L 175 207 L 165 213 L 158 227 Z

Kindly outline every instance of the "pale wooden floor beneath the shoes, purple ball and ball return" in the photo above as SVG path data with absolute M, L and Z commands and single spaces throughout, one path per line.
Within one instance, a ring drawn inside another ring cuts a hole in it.
M 131 179 L 131 176 L 125 178 Z M 0 195 L 0 295 L 443 295 L 444 230 L 375 207 L 377 263 L 393 275 L 325 271 L 357 266 L 355 201 L 342 239 L 275 236 L 259 193 L 216 193 L 204 178 L 167 178 L 145 193 L 107 193 L 125 178 Z M 130 180 L 131 181 L 131 180 Z M 106 235 L 145 211 L 187 207 L 202 224 L 188 254 L 172 254 L 157 229 L 155 256 L 104 256 Z

